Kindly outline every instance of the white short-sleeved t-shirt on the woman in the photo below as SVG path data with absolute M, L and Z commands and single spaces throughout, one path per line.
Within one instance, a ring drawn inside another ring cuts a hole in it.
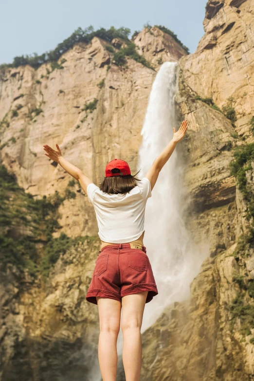
M 104 193 L 94 183 L 87 186 L 98 223 L 98 236 L 104 242 L 126 243 L 144 231 L 145 204 L 151 194 L 150 181 L 144 177 L 129 193 Z

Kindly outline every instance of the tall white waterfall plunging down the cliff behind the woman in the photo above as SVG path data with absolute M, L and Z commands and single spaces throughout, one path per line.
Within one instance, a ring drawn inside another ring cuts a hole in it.
M 176 124 L 175 111 L 177 83 L 178 64 L 163 63 L 152 85 L 141 130 L 143 138 L 137 167 L 137 171 L 141 169 L 140 179 L 172 139 L 173 127 L 176 130 L 180 127 Z M 186 163 L 178 152 L 181 142 L 163 166 L 152 197 L 146 202 L 144 245 L 158 295 L 145 305 L 142 332 L 155 322 L 166 306 L 188 299 L 190 283 L 208 256 L 208 245 L 196 245 L 186 227 L 189 198 L 183 186 Z

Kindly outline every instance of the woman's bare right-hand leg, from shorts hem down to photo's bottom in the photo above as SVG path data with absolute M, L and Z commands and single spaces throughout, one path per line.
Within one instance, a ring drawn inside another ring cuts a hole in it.
M 142 360 L 141 326 L 148 291 L 122 297 L 121 328 L 126 381 L 139 381 Z

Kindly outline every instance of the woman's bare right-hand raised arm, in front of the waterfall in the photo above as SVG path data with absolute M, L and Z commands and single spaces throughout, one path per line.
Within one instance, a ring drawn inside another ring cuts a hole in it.
M 169 142 L 169 144 L 163 149 L 163 151 L 160 153 L 160 155 L 155 158 L 154 162 L 152 163 L 151 167 L 148 169 L 148 171 L 145 174 L 145 177 L 150 181 L 151 183 L 151 190 L 153 189 L 160 171 L 162 170 L 165 163 L 170 158 L 171 154 L 173 153 L 177 143 L 181 141 L 183 136 L 185 135 L 185 132 L 187 130 L 187 124 L 188 122 L 184 120 L 181 124 L 181 127 L 178 131 L 176 131 L 175 127 L 173 127 L 173 138 Z

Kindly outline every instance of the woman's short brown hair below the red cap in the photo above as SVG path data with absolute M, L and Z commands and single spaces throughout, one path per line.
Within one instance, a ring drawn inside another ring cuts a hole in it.
M 120 169 L 113 168 L 111 169 L 112 173 L 119 173 Z M 117 195 L 118 193 L 128 193 L 137 186 L 135 180 L 141 181 L 140 179 L 136 179 L 135 176 L 140 172 L 140 170 L 134 175 L 126 175 L 126 176 L 112 176 L 112 177 L 104 177 L 104 180 L 99 185 L 99 188 L 104 193 L 111 193 Z

